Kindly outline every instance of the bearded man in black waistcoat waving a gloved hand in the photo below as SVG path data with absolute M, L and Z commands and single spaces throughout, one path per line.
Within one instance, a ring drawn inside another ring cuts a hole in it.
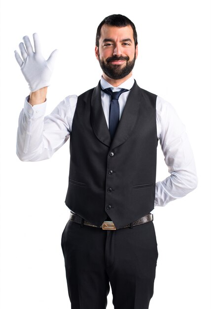
M 184 126 L 168 102 L 132 77 L 138 41 L 127 17 L 108 16 L 98 27 L 97 87 L 66 97 L 45 118 L 56 51 L 45 62 L 37 35 L 35 52 L 23 39 L 23 60 L 15 56 L 31 93 L 19 117 L 17 154 L 46 159 L 70 137 L 70 220 L 62 249 L 71 308 L 106 308 L 110 282 L 115 309 L 147 309 L 158 257 L 150 212 L 197 186 Z M 158 140 L 171 175 L 155 183 Z

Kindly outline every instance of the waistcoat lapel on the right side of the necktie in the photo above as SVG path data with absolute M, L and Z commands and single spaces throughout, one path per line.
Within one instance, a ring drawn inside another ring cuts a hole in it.
M 135 127 L 137 118 L 140 115 L 141 96 L 141 89 L 135 80 L 122 112 L 122 116 L 116 129 L 113 141 L 111 143 L 111 149 L 114 149 L 115 147 L 125 143 L 126 140 L 130 137 Z

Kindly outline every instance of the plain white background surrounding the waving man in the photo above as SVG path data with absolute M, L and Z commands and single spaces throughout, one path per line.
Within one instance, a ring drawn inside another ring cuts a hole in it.
M 139 7 L 137 6 L 139 3 Z M 134 77 L 176 109 L 194 151 L 198 188 L 165 207 L 154 225 L 159 258 L 150 309 L 211 308 L 210 85 L 208 0 L 2 0 L 0 6 L 1 309 L 68 309 L 61 234 L 69 218 L 69 142 L 50 160 L 16 156 L 18 116 L 29 94 L 14 57 L 22 37 L 37 32 L 45 58 L 59 49 L 47 113 L 70 94 L 97 85 L 99 23 L 110 14 L 136 25 L 139 57 Z M 157 180 L 168 176 L 158 147 Z M 108 295 L 112 309 L 112 293 Z

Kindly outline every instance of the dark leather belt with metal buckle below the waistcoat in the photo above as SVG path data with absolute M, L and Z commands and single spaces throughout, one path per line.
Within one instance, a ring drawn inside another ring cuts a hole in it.
M 97 226 L 97 225 L 93 225 L 89 221 L 83 219 L 79 215 L 74 214 L 72 212 L 70 212 L 70 219 L 69 220 L 76 222 L 80 225 L 84 224 L 84 225 L 87 225 L 87 226 L 90 226 L 90 227 L 100 228 L 102 230 L 116 230 L 116 227 L 115 227 L 113 221 L 104 221 L 104 223 L 101 226 Z M 153 214 L 151 214 L 151 213 L 147 214 L 146 216 L 144 216 L 144 217 L 142 217 L 142 218 L 140 218 L 140 219 L 138 219 L 138 220 L 136 220 L 132 223 L 125 225 L 124 227 L 121 227 L 120 229 L 131 228 L 131 227 L 134 227 L 136 225 L 144 224 L 144 223 L 147 223 L 147 222 L 150 222 L 150 221 L 153 221 Z

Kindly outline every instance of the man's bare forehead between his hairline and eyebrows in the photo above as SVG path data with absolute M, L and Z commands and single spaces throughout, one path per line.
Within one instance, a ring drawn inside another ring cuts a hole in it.
M 133 28 L 129 25 L 126 27 L 116 27 L 103 25 L 101 28 L 100 41 L 104 39 L 121 40 L 121 39 L 133 39 Z

